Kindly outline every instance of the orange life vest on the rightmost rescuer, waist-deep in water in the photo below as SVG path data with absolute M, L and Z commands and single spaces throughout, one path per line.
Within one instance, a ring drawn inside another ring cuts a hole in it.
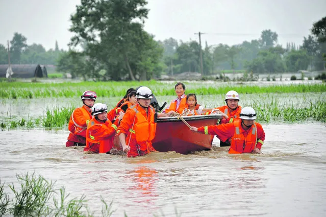
M 255 149 L 257 142 L 257 129 L 253 125 L 248 130 L 248 135 L 244 136 L 243 128 L 241 127 L 241 122 L 234 122 L 235 132 L 231 138 L 231 147 L 229 154 L 241 154 L 241 153 L 250 153 Z

